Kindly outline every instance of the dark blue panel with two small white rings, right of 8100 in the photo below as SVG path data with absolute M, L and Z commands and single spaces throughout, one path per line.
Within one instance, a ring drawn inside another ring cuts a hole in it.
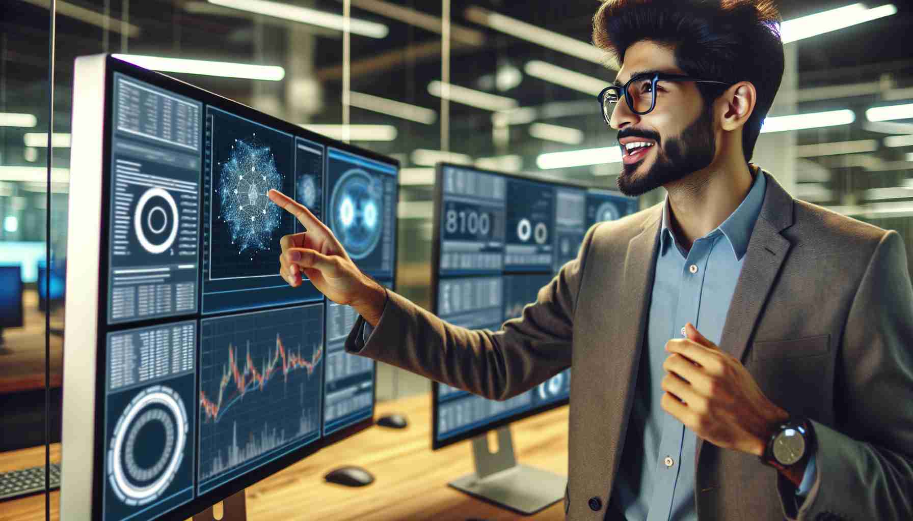
M 549 271 L 555 263 L 555 187 L 508 180 L 505 271 Z

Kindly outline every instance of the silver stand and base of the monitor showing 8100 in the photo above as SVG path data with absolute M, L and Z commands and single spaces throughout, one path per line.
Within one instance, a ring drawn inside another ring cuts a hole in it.
M 510 427 L 498 429 L 497 453 L 488 449 L 487 434 L 473 439 L 472 448 L 476 472 L 448 485 L 524 516 L 535 514 L 564 498 L 566 477 L 517 464 Z

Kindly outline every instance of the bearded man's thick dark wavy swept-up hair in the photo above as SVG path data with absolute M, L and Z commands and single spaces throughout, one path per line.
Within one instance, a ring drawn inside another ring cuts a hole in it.
M 670 48 L 678 68 L 697 78 L 748 81 L 758 92 L 745 123 L 742 150 L 750 162 L 761 123 L 783 78 L 782 18 L 772 0 L 602 0 L 593 16 L 593 45 L 610 61 L 649 40 Z M 726 86 L 698 83 L 708 105 Z

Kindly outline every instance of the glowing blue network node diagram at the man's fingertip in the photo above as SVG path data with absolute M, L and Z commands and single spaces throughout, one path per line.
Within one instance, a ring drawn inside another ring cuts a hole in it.
M 269 189 L 282 189 L 282 174 L 268 146 L 235 140 L 228 161 L 221 168 L 218 193 L 222 203 L 219 218 L 228 225 L 238 253 L 269 249 L 272 232 L 281 224 L 281 209 L 269 202 Z

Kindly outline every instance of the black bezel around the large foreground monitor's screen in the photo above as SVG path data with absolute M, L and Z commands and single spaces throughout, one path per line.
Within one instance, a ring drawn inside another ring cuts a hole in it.
M 273 127 L 278 130 L 283 130 L 299 136 L 301 138 L 317 141 L 321 144 L 324 144 L 325 147 L 334 147 L 342 151 L 349 151 L 362 157 L 371 159 L 376 162 L 382 162 L 384 164 L 389 164 L 394 166 L 397 171 L 397 183 L 395 197 L 398 200 L 399 197 L 399 170 L 400 162 L 394 158 L 384 156 L 383 154 L 368 151 L 360 147 L 342 142 L 333 140 L 329 137 L 322 136 L 318 133 L 312 132 L 310 130 L 303 129 L 298 125 L 289 123 L 288 121 L 279 120 L 276 117 L 270 116 L 266 113 L 260 112 L 257 109 L 247 107 L 242 103 L 239 103 L 232 99 L 227 99 L 225 97 L 219 96 L 213 92 L 210 92 L 205 89 L 196 87 L 190 83 L 184 82 L 177 78 L 172 78 L 164 74 L 154 72 L 145 68 L 140 68 L 135 65 L 132 65 L 129 62 L 122 61 L 116 57 L 107 55 L 100 55 L 100 58 L 103 59 L 104 71 L 103 71 L 103 85 L 105 93 L 112 93 L 114 87 L 114 74 L 121 73 L 130 76 L 131 78 L 136 78 L 152 84 L 155 87 L 166 89 L 174 92 L 175 94 L 180 94 L 182 96 L 195 99 L 200 101 L 204 106 L 212 105 L 219 109 L 226 109 L 230 112 L 235 113 L 238 116 L 246 117 L 250 120 L 257 120 L 263 124 Z M 103 101 L 103 112 L 104 119 L 103 121 L 111 121 L 113 116 L 113 101 L 112 99 L 104 99 Z M 108 215 L 110 214 L 110 197 L 107 194 L 110 193 L 110 180 L 111 180 L 111 163 L 106 161 L 107 158 L 110 158 L 111 152 L 111 141 L 112 133 L 109 128 L 105 127 L 102 130 L 101 139 L 101 181 L 100 181 L 100 218 L 101 218 L 101 230 L 100 232 L 107 232 L 109 229 L 108 224 Z M 201 174 L 202 175 L 202 174 Z M 323 174 L 323 182 L 326 181 L 326 172 Z M 203 201 L 203 187 L 201 185 L 200 189 L 200 204 L 202 205 Z M 202 206 L 201 206 L 202 207 Z M 395 213 L 394 213 L 395 218 Z M 197 294 L 197 308 L 196 312 L 192 314 L 177 315 L 167 318 L 151 318 L 145 320 L 136 320 L 127 323 L 118 323 L 118 324 L 108 324 L 108 270 L 109 266 L 109 244 L 107 241 L 108 234 L 102 234 L 100 240 L 100 250 L 97 252 L 99 255 L 98 260 L 98 294 L 96 309 L 98 310 L 97 322 L 95 325 L 95 374 L 99 377 L 102 377 L 105 374 L 105 365 L 107 359 L 107 335 L 111 332 L 118 332 L 127 329 L 134 328 L 144 328 L 144 327 L 154 327 L 161 326 L 170 323 L 179 322 L 182 320 L 192 319 L 196 323 L 196 349 L 197 354 L 199 352 L 200 337 L 202 334 L 200 324 L 203 318 L 218 318 L 231 316 L 237 312 L 220 312 L 204 316 L 202 309 L 200 307 L 200 291 L 198 289 Z M 200 234 L 199 237 L 200 244 L 203 241 L 203 234 Z M 394 266 L 396 261 L 396 246 L 398 243 L 398 231 L 394 232 Z M 202 261 L 201 261 L 202 262 Z M 70 263 L 68 263 L 68 266 Z M 202 269 L 202 266 L 198 267 L 198 270 Z M 391 285 L 395 287 L 395 267 L 393 275 L 390 277 Z M 67 277 L 68 279 L 70 277 Z M 383 280 L 386 280 L 385 278 Z M 269 309 L 277 308 L 286 308 L 286 307 L 298 307 L 298 306 L 309 306 L 320 304 L 323 307 L 324 314 L 326 313 L 326 302 L 327 298 L 322 297 L 320 300 L 313 300 L 307 302 L 296 302 L 296 303 L 287 303 L 278 306 L 272 307 L 258 307 L 257 311 L 268 311 Z M 323 338 L 324 346 L 326 342 L 326 319 L 323 320 Z M 198 362 L 198 360 L 197 360 Z M 324 379 L 326 377 L 326 364 L 323 364 L 324 370 Z M 199 369 L 197 368 L 197 371 Z M 94 414 L 94 429 L 92 432 L 92 472 L 91 472 L 91 504 L 90 504 L 90 518 L 93 521 L 101 521 L 103 515 L 103 502 L 104 502 L 104 441 L 105 441 L 105 430 L 106 430 L 106 421 L 104 414 L 104 404 L 105 404 L 105 386 L 106 380 L 104 378 L 96 378 L 95 381 L 95 390 L 94 390 L 94 402 L 93 402 L 93 411 Z M 321 407 L 321 423 L 322 423 L 322 408 L 324 402 L 324 389 L 321 388 L 321 397 L 320 397 L 320 407 Z M 268 477 L 269 475 L 276 474 L 279 471 L 291 466 L 292 464 L 298 463 L 300 460 L 310 456 L 313 453 L 317 453 L 320 449 L 327 447 L 333 443 L 339 443 L 342 440 L 351 437 L 353 434 L 362 432 L 365 429 L 371 427 L 374 424 L 374 413 L 376 408 L 377 401 L 377 362 L 373 361 L 373 399 L 372 399 L 372 414 L 371 417 L 366 418 L 362 421 L 353 423 L 352 425 L 345 427 L 337 432 L 332 432 L 330 435 L 322 435 L 322 424 L 320 426 L 320 437 L 314 442 L 300 447 L 299 449 L 292 451 L 288 454 L 278 457 L 277 459 L 263 464 L 256 469 L 253 469 L 247 474 L 240 475 L 233 479 L 230 482 L 227 482 L 224 485 L 219 485 L 213 490 L 206 492 L 203 495 L 198 495 L 196 493 L 196 479 L 198 477 L 198 468 L 197 468 L 197 459 L 196 454 L 199 450 L 199 440 L 198 436 L 194 432 L 194 499 L 184 503 L 183 505 L 174 507 L 171 511 L 167 512 L 163 516 L 158 517 L 158 519 L 164 520 L 178 520 L 183 521 L 184 519 L 194 516 L 211 505 L 215 505 L 219 501 L 222 501 L 230 495 L 234 495 L 239 491 L 244 490 L 247 486 L 254 485 L 255 483 L 261 481 L 262 479 Z M 194 407 L 194 414 L 196 414 L 196 422 L 199 421 L 199 408 Z M 194 424 L 196 423 L 194 422 Z

